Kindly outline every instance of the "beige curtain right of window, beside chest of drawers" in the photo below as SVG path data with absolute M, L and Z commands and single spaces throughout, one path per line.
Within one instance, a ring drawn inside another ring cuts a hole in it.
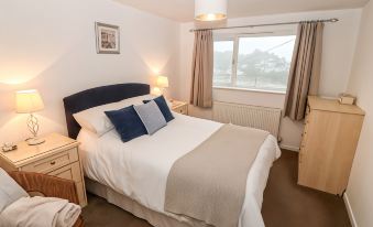
M 285 116 L 293 120 L 304 119 L 307 96 L 318 95 L 322 32 L 322 22 L 298 25 L 285 99 Z

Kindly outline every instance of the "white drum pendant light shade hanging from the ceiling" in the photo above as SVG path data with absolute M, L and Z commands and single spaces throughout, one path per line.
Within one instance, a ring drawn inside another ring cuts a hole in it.
M 218 21 L 227 18 L 227 0 L 195 0 L 195 19 Z

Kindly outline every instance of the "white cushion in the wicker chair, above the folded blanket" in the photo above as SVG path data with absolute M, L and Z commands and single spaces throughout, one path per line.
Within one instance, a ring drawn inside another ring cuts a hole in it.
M 29 194 L 0 167 L 0 213 L 21 197 Z

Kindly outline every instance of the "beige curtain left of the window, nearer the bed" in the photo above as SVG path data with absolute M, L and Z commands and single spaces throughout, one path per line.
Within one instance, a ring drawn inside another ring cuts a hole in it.
M 190 104 L 212 107 L 213 40 L 211 30 L 195 32 Z

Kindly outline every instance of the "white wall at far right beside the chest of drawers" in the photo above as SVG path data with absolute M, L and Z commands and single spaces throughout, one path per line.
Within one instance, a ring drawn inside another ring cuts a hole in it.
M 347 197 L 359 227 L 373 226 L 373 2 L 363 10 L 360 36 L 350 77 L 350 93 L 365 110 L 364 125 L 352 166 Z

